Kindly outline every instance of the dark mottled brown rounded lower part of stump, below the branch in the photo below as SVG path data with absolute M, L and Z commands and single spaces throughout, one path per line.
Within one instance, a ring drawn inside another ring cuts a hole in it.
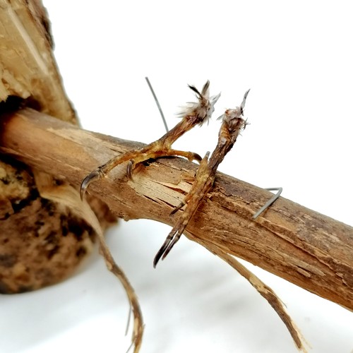
M 0 293 L 19 293 L 71 275 L 91 252 L 95 233 L 68 208 L 42 198 L 25 164 L 8 162 L 0 160 Z

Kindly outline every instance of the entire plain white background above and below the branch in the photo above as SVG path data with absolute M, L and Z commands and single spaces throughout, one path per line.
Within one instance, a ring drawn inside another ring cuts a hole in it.
M 55 55 L 84 128 L 148 143 L 193 100 L 222 91 L 213 121 L 175 147 L 213 150 L 215 117 L 246 102 L 247 126 L 220 170 L 353 225 L 350 1 L 44 1 Z M 104 162 L 104 161 L 102 161 Z M 119 222 L 107 239 L 138 293 L 143 353 L 296 352 L 285 325 L 246 280 L 182 238 L 157 269 L 169 227 Z M 353 352 L 353 315 L 251 267 L 287 304 L 312 352 Z M 91 256 L 76 275 L 2 296 L 1 352 L 126 352 L 123 289 Z

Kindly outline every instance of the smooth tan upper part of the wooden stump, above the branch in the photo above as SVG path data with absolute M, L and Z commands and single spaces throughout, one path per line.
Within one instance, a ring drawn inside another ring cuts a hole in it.
M 0 102 L 28 99 L 37 109 L 77 124 L 52 53 L 41 1 L 0 0 Z

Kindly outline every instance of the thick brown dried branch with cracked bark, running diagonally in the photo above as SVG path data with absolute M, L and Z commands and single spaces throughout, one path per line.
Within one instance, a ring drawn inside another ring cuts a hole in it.
M 32 109 L 8 114 L 1 121 L 0 152 L 77 189 L 102 162 L 141 145 L 84 131 Z M 191 188 L 196 169 L 186 160 L 161 158 L 139 165 L 131 181 L 122 164 L 93 183 L 90 193 L 125 220 L 146 218 L 173 225 L 169 214 Z M 353 228 L 285 198 L 252 220 L 270 196 L 217 173 L 214 188 L 189 223 L 186 236 L 201 244 L 216 244 L 225 253 L 352 310 Z

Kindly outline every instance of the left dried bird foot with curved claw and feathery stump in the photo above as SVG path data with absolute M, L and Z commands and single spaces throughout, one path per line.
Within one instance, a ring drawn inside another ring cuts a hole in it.
M 122 155 L 114 157 L 112 160 L 109 160 L 107 163 L 88 174 L 88 176 L 83 179 L 80 186 L 81 199 L 85 195 L 88 186 L 93 181 L 102 179 L 102 177 L 105 177 L 114 167 L 124 162 L 128 162 L 127 173 L 131 178 L 134 165 L 149 160 L 150 158 L 156 159 L 158 157 L 180 155 L 181 157 L 188 158 L 188 160 L 201 160 L 201 157 L 196 153 L 172 150 L 171 147 L 180 136 L 186 133 L 186 131 L 189 131 L 193 126 L 202 125 L 212 116 L 213 111 L 215 110 L 214 105 L 220 97 L 220 94 L 210 97 L 209 86 L 210 82 L 207 81 L 201 92 L 195 87 L 189 86 L 193 92 L 196 92 L 198 102 L 189 103 L 183 112 L 181 112 L 181 121 L 179 124 L 165 133 L 162 138 L 146 145 L 144 148 L 128 151 Z

